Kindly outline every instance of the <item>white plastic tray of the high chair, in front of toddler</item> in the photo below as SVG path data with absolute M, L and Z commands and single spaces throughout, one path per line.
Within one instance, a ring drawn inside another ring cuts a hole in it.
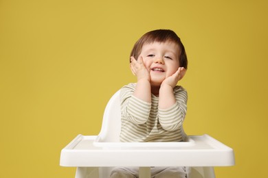
M 234 151 L 214 138 L 189 142 L 94 144 L 97 136 L 78 135 L 60 154 L 60 166 L 233 166 Z

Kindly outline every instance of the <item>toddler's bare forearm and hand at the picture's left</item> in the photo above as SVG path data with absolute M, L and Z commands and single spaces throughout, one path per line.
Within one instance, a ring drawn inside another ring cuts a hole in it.
M 150 73 L 144 66 L 142 56 L 139 56 L 137 60 L 131 57 L 131 71 L 137 77 L 137 86 L 133 95 L 142 101 L 150 103 Z

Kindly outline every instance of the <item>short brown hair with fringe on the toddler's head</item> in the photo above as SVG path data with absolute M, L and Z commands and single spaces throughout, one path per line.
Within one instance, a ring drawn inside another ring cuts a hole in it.
M 131 51 L 131 56 L 133 56 L 136 60 L 139 57 L 139 54 L 142 52 L 142 47 L 144 44 L 153 43 L 153 42 L 175 42 L 175 44 L 179 47 L 179 66 L 187 69 L 188 60 L 186 51 L 181 42 L 181 39 L 174 31 L 170 29 L 156 29 L 153 31 L 149 31 L 144 34 L 137 42 L 134 44 L 134 47 Z

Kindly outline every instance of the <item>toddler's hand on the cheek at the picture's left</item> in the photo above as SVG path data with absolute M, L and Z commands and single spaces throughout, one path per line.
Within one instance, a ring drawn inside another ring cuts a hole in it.
M 131 56 L 131 71 L 133 75 L 137 77 L 137 81 L 140 79 L 147 79 L 150 81 L 150 73 L 148 69 L 144 66 L 144 61 L 142 56 L 139 56 L 137 60 Z

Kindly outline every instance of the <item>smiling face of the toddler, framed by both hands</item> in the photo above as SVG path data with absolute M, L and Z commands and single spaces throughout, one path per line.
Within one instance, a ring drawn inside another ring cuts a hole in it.
M 179 47 L 174 42 L 144 44 L 140 53 L 150 73 L 150 83 L 160 86 L 161 82 L 179 68 Z

